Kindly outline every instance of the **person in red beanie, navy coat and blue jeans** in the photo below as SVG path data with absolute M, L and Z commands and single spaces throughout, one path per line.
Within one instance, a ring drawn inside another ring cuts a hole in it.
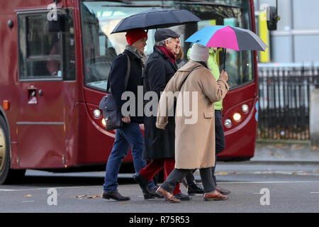
M 144 48 L 147 40 L 147 33 L 142 29 L 133 29 L 126 33 L 128 45 L 124 52 L 118 55 L 113 61 L 109 77 L 109 83 L 112 95 L 116 100 L 117 109 L 121 111 L 125 100 L 121 99 L 124 92 L 133 92 L 138 97 L 138 86 L 142 86 L 142 69 L 145 66 L 146 57 Z M 128 85 L 125 89 L 125 74 L 128 66 L 128 57 L 130 59 L 130 74 Z M 138 116 L 138 101 L 136 101 L 135 114 L 124 116 L 122 114 L 123 128 L 116 129 L 116 138 L 108 162 L 106 164 L 105 183 L 103 184 L 103 198 L 115 199 L 117 201 L 129 200 L 130 197 L 122 196 L 118 192 L 118 171 L 120 170 L 123 158 L 128 155 L 131 149 L 135 172 L 139 172 L 147 163 L 142 160 L 142 150 L 144 139 L 140 131 L 140 123 L 144 123 L 142 116 Z M 132 113 L 132 111 L 130 111 Z M 155 188 L 154 182 L 148 184 L 150 189 Z M 145 199 L 151 199 L 156 194 L 144 193 Z

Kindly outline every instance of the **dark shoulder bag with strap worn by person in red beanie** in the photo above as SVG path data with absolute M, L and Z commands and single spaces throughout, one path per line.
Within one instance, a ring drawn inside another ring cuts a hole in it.
M 126 57 L 128 58 L 128 69 L 126 70 L 126 74 L 125 74 L 125 91 L 126 91 L 126 88 L 128 87 L 128 77 L 130 76 L 130 57 L 128 57 L 128 55 L 126 55 Z M 119 110 L 117 108 L 116 101 L 113 95 L 107 94 L 109 89 L 110 89 L 110 76 L 108 76 L 106 96 L 103 96 L 99 104 L 99 109 L 103 111 L 103 118 L 106 121 L 106 131 L 111 131 L 111 130 L 123 127 L 121 109 Z

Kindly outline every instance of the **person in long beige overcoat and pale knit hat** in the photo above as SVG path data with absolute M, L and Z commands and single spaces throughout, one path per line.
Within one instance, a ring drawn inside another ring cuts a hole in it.
M 190 61 L 181 67 L 169 81 L 164 92 L 196 92 L 198 97 L 198 121 L 186 124 L 186 116 L 176 116 L 175 168 L 166 181 L 157 189 L 157 194 L 171 202 L 180 199 L 172 194 L 177 182 L 189 172 L 199 169 L 204 188 L 204 200 L 225 200 L 213 182 L 211 167 L 215 165 L 215 114 L 214 103 L 228 92 L 228 74 L 223 71 L 218 81 L 208 69 L 209 48 L 195 43 L 190 52 Z M 183 84 L 184 85 L 181 85 Z M 169 124 L 168 110 L 172 108 L 162 94 L 157 110 L 157 128 L 164 129 Z M 177 97 L 177 104 L 184 100 Z M 177 105 L 177 109 L 179 105 Z

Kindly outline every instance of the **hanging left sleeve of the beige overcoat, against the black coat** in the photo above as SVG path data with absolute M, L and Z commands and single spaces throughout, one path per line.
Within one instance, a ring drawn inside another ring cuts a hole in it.
M 159 129 L 164 129 L 168 123 L 169 113 L 171 110 L 174 113 L 174 100 L 176 99 L 176 89 L 174 89 L 174 77 L 172 77 L 159 99 L 159 104 L 157 106 L 157 121 L 156 127 Z

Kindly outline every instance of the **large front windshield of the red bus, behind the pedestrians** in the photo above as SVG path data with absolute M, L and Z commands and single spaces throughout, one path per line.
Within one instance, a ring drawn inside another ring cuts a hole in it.
M 236 26 L 250 29 L 250 1 L 211 0 L 191 3 L 189 1 L 82 1 L 82 38 L 84 50 L 84 83 L 86 87 L 106 92 L 108 73 L 114 58 L 127 45 L 125 33 L 111 34 L 125 17 L 157 9 L 186 9 L 201 18 L 198 23 L 171 27 L 181 35 L 181 50 L 184 57 L 179 66 L 187 61 L 191 43 L 185 43 L 196 31 L 211 25 Z M 155 29 L 148 31 L 145 54 L 153 51 Z M 216 50 L 216 62 L 223 70 L 223 49 Z M 254 81 L 252 51 L 227 50 L 225 70 L 228 72 L 231 88 Z

